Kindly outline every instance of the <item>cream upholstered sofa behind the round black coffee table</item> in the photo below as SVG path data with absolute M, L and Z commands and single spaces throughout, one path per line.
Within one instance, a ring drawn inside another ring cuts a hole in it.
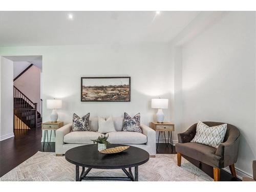
M 122 131 L 123 118 L 114 118 L 114 125 L 117 132 L 106 133 L 112 144 L 126 144 L 136 146 L 147 151 L 151 157 L 156 155 L 156 132 L 150 127 L 141 124 L 143 133 Z M 98 133 L 98 118 L 90 118 L 90 128 L 92 131 L 72 132 L 72 123 L 62 126 L 56 131 L 55 153 L 56 156 L 62 156 L 70 148 L 93 144 L 92 139 L 97 139 L 104 135 Z

